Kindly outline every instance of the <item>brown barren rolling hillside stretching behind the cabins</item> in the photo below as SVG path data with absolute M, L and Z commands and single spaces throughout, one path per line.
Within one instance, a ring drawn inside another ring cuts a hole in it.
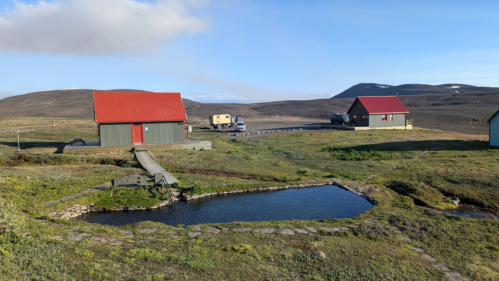
M 92 92 L 74 89 L 33 92 L 0 100 L 0 116 L 93 117 Z M 138 91 L 119 89 L 110 91 Z M 488 134 L 487 119 L 499 108 L 499 90 L 473 93 L 406 94 L 399 97 L 409 109 L 415 126 Z M 188 116 L 207 118 L 210 114 L 230 113 L 245 117 L 294 115 L 329 119 L 343 112 L 353 97 L 312 100 L 284 100 L 260 103 L 201 103 L 183 99 Z

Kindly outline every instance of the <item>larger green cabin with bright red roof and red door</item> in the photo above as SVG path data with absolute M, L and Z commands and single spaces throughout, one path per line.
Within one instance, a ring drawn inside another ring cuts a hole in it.
M 94 92 L 100 146 L 185 142 L 179 92 Z

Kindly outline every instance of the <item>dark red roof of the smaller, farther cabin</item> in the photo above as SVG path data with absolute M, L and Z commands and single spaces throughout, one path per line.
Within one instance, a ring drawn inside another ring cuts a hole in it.
M 398 96 L 387 95 L 387 96 L 357 96 L 353 101 L 350 108 L 348 108 L 348 113 L 353 108 L 355 103 L 359 100 L 364 108 L 366 108 L 369 114 L 383 114 L 383 113 L 409 113 L 409 110 L 400 101 Z

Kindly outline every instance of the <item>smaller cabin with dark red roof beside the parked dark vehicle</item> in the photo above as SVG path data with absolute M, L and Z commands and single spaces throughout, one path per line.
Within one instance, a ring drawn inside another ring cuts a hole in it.
M 350 126 L 379 129 L 412 129 L 409 110 L 398 96 L 357 96 L 347 111 Z

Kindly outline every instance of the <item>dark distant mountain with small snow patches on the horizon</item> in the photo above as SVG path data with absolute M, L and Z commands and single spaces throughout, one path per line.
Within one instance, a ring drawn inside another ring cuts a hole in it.
M 392 86 L 387 84 L 360 83 L 344 90 L 331 98 L 346 98 L 372 95 L 404 95 L 428 93 L 456 93 L 456 92 L 499 92 L 499 87 L 477 87 L 467 84 L 402 84 Z

